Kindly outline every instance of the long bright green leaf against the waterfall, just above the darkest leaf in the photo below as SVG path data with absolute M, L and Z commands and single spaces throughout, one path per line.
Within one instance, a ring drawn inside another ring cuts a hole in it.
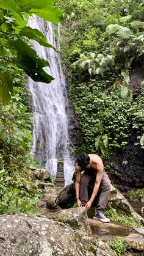
M 43 35 L 43 33 L 41 33 L 38 29 L 32 29 L 32 27 L 23 27 L 19 34 L 35 40 L 40 43 L 40 45 L 52 48 L 56 51 L 56 48 L 47 43 L 45 35 Z

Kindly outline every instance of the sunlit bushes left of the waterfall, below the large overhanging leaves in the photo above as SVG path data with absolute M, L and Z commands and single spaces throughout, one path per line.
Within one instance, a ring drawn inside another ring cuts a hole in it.
M 9 105 L 0 105 L 0 170 L 9 170 L 9 173 L 1 172 L 1 213 L 31 213 L 40 196 L 27 161 L 32 142 L 31 104 L 23 71 L 11 65 L 7 68 L 13 78 L 15 94 Z

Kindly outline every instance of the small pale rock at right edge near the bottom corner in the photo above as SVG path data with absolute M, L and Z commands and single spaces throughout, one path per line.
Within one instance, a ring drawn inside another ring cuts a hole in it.
M 136 249 L 137 251 L 144 252 L 144 238 L 139 234 L 129 235 L 126 238 L 124 244 L 128 249 Z

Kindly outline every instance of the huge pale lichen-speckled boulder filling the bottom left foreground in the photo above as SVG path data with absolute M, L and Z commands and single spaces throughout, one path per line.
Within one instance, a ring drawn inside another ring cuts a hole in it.
M 81 213 L 80 213 L 81 216 Z M 77 216 L 79 218 L 79 216 Z M 4 214 L 0 216 L 0 251 L 5 256 L 116 256 L 95 237 L 79 235 L 68 224 L 44 216 Z

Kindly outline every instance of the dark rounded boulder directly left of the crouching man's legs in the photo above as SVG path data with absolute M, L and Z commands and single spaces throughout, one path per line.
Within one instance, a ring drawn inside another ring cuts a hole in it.
M 55 203 L 59 205 L 60 208 L 71 208 L 76 202 L 76 192 L 75 185 L 71 183 L 70 185 L 65 186 L 57 196 Z

